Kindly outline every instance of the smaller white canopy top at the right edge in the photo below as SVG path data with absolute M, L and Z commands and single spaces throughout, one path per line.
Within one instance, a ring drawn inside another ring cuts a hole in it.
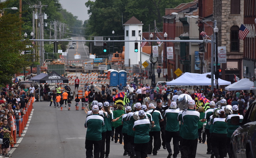
M 256 90 L 256 88 L 253 87 L 253 82 L 250 79 L 245 78 L 226 86 L 225 90 Z

